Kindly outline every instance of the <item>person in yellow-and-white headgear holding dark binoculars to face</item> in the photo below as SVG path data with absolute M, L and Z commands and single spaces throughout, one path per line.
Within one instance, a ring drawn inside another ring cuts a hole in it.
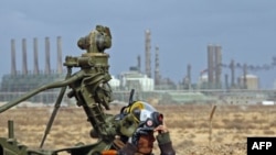
M 126 110 L 126 113 L 136 115 L 139 128 L 118 151 L 119 155 L 152 155 L 156 140 L 161 155 L 176 155 L 163 117 L 155 108 L 146 102 L 137 101 Z M 158 133 L 156 137 L 155 133 Z

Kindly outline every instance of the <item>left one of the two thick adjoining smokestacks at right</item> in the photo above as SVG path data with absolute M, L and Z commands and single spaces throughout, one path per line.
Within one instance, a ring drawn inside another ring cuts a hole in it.
M 213 85 L 214 81 L 214 46 L 208 45 L 208 81 Z

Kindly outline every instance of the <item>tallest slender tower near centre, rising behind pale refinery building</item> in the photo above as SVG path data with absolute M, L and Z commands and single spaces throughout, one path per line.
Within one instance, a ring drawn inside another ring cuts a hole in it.
M 150 31 L 146 30 L 146 75 L 151 78 L 151 67 L 150 67 Z

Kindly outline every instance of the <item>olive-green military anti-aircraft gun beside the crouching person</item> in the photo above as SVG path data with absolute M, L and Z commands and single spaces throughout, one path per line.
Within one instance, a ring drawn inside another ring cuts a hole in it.
M 137 124 L 134 123 L 135 121 L 132 121 L 134 118 L 131 118 L 131 115 L 117 120 L 115 117 L 104 113 L 104 109 L 109 110 L 109 103 L 113 101 L 113 91 L 108 85 L 108 81 L 112 79 L 108 73 L 109 55 L 105 53 L 105 49 L 112 46 L 109 27 L 96 25 L 96 29 L 88 35 L 78 40 L 77 45 L 86 52 L 81 56 L 65 57 L 63 65 L 66 67 L 67 74 L 63 81 L 43 85 L 0 107 L 1 113 L 41 91 L 61 88 L 40 147 L 31 150 L 25 145 L 19 144 L 13 135 L 13 122 L 9 121 L 9 137 L 0 137 L 0 154 L 57 155 L 61 152 L 67 152 L 71 155 L 100 155 L 103 151 L 113 147 L 116 135 L 130 136 L 134 133 Z M 79 68 L 79 70 L 72 74 L 72 68 Z M 94 136 L 96 135 L 98 141 L 87 145 L 83 144 L 60 150 L 44 150 L 44 141 L 51 130 L 67 88 L 70 88 L 67 97 L 75 98 L 76 104 L 83 108 L 87 115 L 87 121 L 93 128 L 92 134 Z

